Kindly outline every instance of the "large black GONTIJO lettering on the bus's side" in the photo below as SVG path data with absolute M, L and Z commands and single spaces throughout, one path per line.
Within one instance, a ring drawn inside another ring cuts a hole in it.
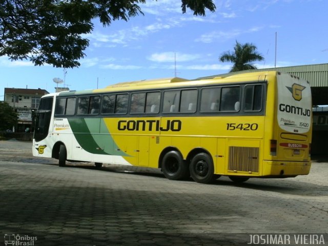
M 119 131 L 181 131 L 181 120 L 167 120 L 166 124 L 160 126 L 159 120 L 119 120 L 117 123 L 117 129 Z

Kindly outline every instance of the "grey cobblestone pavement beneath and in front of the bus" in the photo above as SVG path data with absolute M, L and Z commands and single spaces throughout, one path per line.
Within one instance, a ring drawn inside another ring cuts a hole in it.
M 202 185 L 146 168 L 59 168 L 31 146 L 0 141 L 3 244 L 9 233 L 34 245 L 247 245 L 250 233 L 328 233 L 326 162 L 307 176 Z

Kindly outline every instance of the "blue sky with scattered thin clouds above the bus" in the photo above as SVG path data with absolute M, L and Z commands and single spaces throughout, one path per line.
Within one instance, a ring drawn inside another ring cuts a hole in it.
M 148 1 L 144 16 L 118 20 L 104 28 L 96 20 L 87 35 L 90 46 L 79 68 L 67 69 L 71 90 L 104 88 L 123 81 L 178 77 L 193 79 L 229 72 L 230 63 L 218 60 L 239 43 L 253 43 L 265 60 L 255 65 L 298 66 L 328 63 L 328 1 L 326 0 L 215 0 L 216 12 L 205 17 L 181 13 L 179 0 Z M 4 88 L 46 89 L 64 71 L 30 61 L 0 57 L 0 100 Z M 98 81 L 98 83 L 97 83 Z

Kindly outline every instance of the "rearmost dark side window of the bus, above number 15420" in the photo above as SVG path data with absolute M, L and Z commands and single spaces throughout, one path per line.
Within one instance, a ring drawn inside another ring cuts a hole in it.
M 245 86 L 244 111 L 261 111 L 263 98 L 262 85 Z

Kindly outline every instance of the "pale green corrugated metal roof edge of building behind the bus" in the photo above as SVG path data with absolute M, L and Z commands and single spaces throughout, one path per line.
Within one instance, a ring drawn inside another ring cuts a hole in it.
M 283 73 L 291 73 L 295 76 L 304 78 L 310 82 L 311 87 L 328 87 L 328 63 L 325 64 L 314 64 L 314 65 L 303 65 L 293 67 L 282 67 L 282 68 L 264 68 L 256 70 L 244 70 L 233 73 L 224 73 L 208 77 L 201 77 L 198 79 L 206 79 L 213 77 L 227 77 L 239 73 L 248 72 L 261 72 L 261 71 L 280 71 Z

